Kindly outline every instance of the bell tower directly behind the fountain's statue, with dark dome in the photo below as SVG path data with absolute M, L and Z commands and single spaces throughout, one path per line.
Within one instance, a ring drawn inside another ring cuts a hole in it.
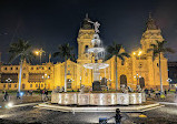
M 90 19 L 88 18 L 88 14 L 86 14 L 86 18 L 83 19 L 79 34 L 77 38 L 78 41 L 78 63 L 90 63 L 90 54 L 88 54 L 88 48 L 92 48 L 91 40 L 95 34 L 94 25 L 89 22 Z

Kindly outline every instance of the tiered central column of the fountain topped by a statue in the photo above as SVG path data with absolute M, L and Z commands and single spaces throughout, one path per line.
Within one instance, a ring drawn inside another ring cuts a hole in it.
M 101 46 L 101 40 L 99 38 L 99 23 L 98 22 L 92 22 L 89 21 L 90 23 L 94 23 L 95 25 L 95 34 L 94 34 L 94 39 L 91 40 L 91 44 L 92 48 L 88 49 L 88 53 L 94 53 L 95 55 L 95 63 L 87 63 L 83 64 L 83 66 L 86 69 L 91 69 L 94 70 L 94 82 L 92 82 L 92 91 L 101 91 L 100 87 L 100 82 L 99 82 L 99 70 L 100 69 L 106 69 L 109 66 L 109 64 L 106 63 L 98 63 L 98 60 L 100 59 L 100 56 L 98 56 L 99 53 L 105 52 L 105 49 Z

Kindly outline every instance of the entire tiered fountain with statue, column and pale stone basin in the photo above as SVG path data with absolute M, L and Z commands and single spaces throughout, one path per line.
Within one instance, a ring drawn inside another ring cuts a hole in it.
M 105 52 L 104 46 L 101 45 L 101 40 L 99 38 L 99 23 L 98 22 L 88 22 L 95 25 L 95 34 L 90 41 L 91 48 L 88 49 L 89 54 L 94 54 L 94 62 L 83 64 L 83 68 L 92 70 L 94 82 L 92 82 L 92 92 L 83 92 L 83 89 L 80 92 L 52 92 L 51 103 L 57 103 L 59 105 L 129 105 L 129 104 L 141 104 L 146 102 L 144 93 L 128 93 L 128 92 L 97 92 L 101 91 L 99 75 L 100 70 L 109 66 L 107 63 L 102 63 L 100 60 L 100 53 Z M 95 92 L 96 91 L 96 92 Z M 79 108 L 79 107 L 75 107 Z M 87 107 L 89 108 L 89 106 Z M 86 111 L 83 108 L 82 111 Z

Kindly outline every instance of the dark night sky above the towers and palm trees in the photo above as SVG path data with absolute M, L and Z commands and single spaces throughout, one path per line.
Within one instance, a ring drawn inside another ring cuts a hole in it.
M 73 45 L 77 53 L 77 35 L 86 13 L 101 24 L 100 38 L 105 45 L 116 41 L 131 52 L 140 46 L 151 12 L 167 45 L 176 50 L 176 7 L 175 0 L 0 0 L 2 61 L 8 62 L 9 44 L 18 38 L 30 41 L 35 49 L 42 48 L 47 52 L 43 62 L 63 42 Z M 167 56 L 169 61 L 177 61 L 177 52 Z

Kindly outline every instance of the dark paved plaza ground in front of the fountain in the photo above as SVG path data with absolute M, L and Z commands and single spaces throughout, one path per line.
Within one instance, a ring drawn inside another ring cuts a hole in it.
M 0 96 L 1 97 L 1 96 Z M 173 96 L 171 96 L 173 97 Z M 173 100 L 170 97 L 170 100 Z M 29 99 L 29 97 L 28 97 Z M 32 97 L 30 97 L 32 99 Z M 170 102 L 170 101 L 169 101 Z M 122 113 L 122 124 L 177 124 L 177 104 L 166 102 L 164 107 L 144 113 Z M 4 102 L 0 102 L 2 106 Z M 140 118 L 139 115 L 147 115 Z M 0 108 L 0 124 L 85 124 L 98 123 L 99 117 L 111 117 L 115 113 L 63 113 L 33 107 L 33 105 L 19 106 L 14 108 Z M 110 120 L 109 123 L 115 123 Z

